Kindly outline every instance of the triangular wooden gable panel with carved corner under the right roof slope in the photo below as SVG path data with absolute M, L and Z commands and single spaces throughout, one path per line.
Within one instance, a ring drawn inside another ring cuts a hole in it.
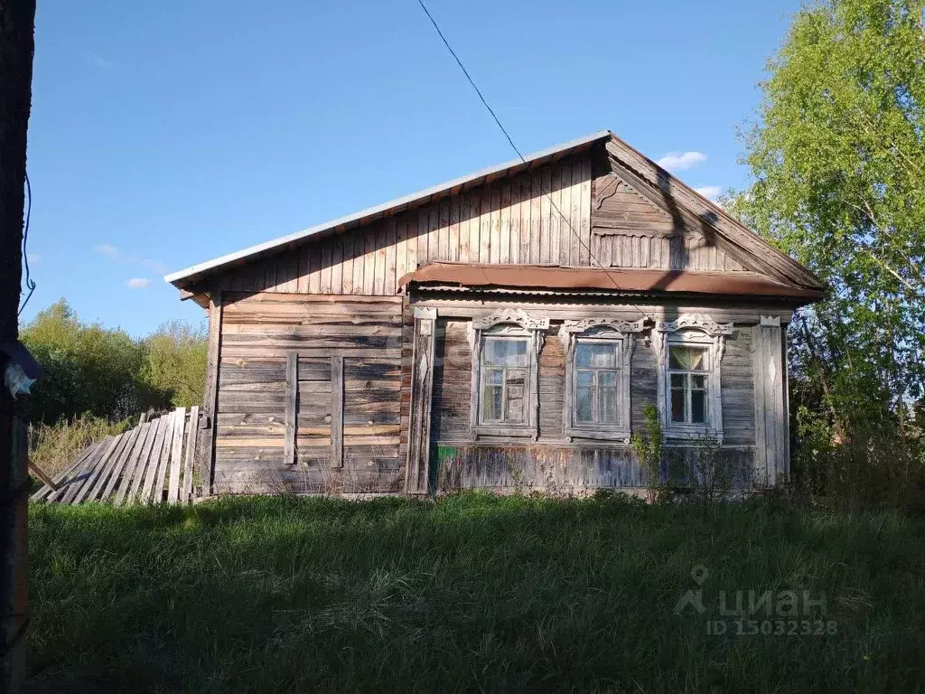
M 591 181 L 591 249 L 605 267 L 672 270 L 745 268 L 708 238 L 688 229 L 613 173 Z

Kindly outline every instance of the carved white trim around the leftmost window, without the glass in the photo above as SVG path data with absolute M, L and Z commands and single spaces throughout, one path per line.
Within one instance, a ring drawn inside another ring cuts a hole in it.
M 536 318 L 519 308 L 503 309 L 488 316 L 475 316 L 469 323 L 469 347 L 472 350 L 469 427 L 475 439 L 480 436 L 508 436 L 536 440 L 539 436 L 539 350 L 542 346 L 543 332 L 547 329 L 549 318 Z M 483 424 L 481 421 L 482 354 L 486 337 L 526 339 L 526 417 L 523 424 Z

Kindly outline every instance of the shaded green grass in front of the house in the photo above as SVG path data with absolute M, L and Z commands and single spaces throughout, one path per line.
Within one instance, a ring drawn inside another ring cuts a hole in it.
M 34 691 L 925 689 L 925 519 L 898 512 L 464 494 L 30 523 Z M 708 611 L 674 613 L 695 564 Z M 707 634 L 737 589 L 824 591 L 837 631 Z

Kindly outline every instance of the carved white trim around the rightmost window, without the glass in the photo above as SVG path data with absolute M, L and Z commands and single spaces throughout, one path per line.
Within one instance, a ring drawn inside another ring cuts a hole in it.
M 710 437 L 722 443 L 722 357 L 732 323 L 717 323 L 709 316 L 688 314 L 676 320 L 656 323 L 652 331 L 659 363 L 658 404 L 666 439 L 691 440 Z M 672 344 L 703 346 L 708 351 L 707 421 L 704 424 L 672 422 L 669 411 L 671 383 L 668 378 L 668 349 Z

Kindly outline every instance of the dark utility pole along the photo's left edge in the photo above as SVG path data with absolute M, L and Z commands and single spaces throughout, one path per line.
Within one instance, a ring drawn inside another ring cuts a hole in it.
M 19 339 L 26 131 L 32 96 L 35 0 L 0 0 L 0 343 Z M 0 355 L 0 375 L 6 372 Z M 0 691 L 25 680 L 28 475 L 16 404 L 0 378 Z

